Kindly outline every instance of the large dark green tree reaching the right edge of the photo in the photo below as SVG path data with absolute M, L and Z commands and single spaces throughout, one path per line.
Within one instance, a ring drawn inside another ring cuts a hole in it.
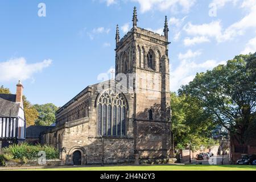
M 203 107 L 205 116 L 211 116 L 214 124 L 224 127 L 240 144 L 249 140 L 249 129 L 255 126 L 255 61 L 255 54 L 236 56 L 226 65 L 197 73 L 179 90 L 180 95 L 185 94 Z

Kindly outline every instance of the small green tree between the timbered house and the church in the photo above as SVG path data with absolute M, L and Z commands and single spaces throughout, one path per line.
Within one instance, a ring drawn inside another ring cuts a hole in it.
M 49 126 L 55 122 L 55 112 L 58 107 L 54 104 L 34 105 L 34 108 L 38 111 L 39 117 L 36 119 L 36 125 Z

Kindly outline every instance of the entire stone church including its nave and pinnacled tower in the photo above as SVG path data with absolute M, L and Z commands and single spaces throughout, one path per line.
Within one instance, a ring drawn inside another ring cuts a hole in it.
M 56 111 L 40 135 L 65 164 L 138 163 L 173 158 L 168 23 L 164 35 L 133 27 L 116 31 L 115 79 L 87 86 Z M 152 22 L 153 23 L 153 22 Z

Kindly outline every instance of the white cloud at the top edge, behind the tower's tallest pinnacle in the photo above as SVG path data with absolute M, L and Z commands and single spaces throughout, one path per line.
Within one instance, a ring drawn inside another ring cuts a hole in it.
M 181 7 L 184 12 L 188 12 L 195 4 L 196 0 L 131 0 L 138 2 L 141 6 L 141 12 L 145 13 L 153 8 L 163 11 L 171 8 Z

